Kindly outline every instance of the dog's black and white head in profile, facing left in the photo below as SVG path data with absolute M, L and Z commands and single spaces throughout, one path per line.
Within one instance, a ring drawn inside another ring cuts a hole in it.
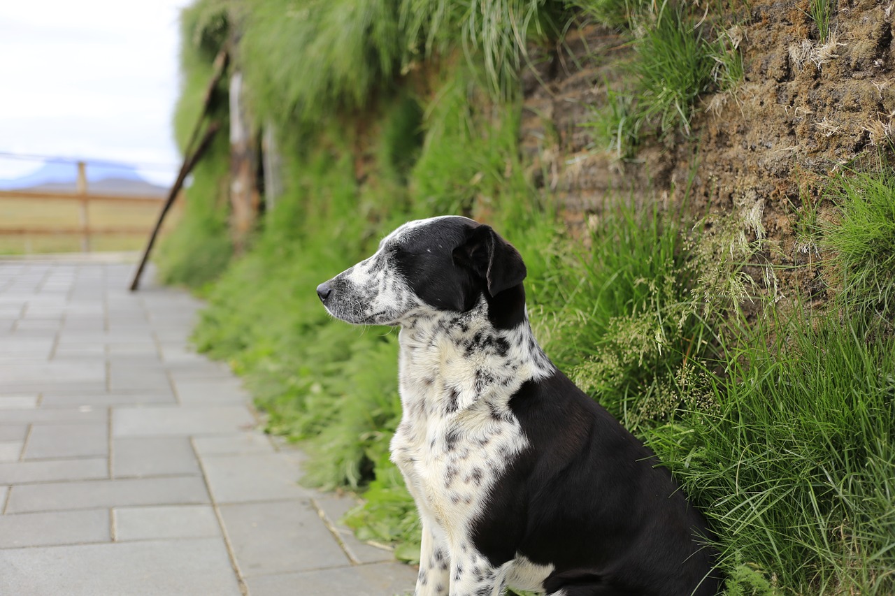
M 337 319 L 401 325 L 413 314 L 466 312 L 482 300 L 491 306 L 509 299 L 507 307 L 524 310 L 524 278 L 519 252 L 490 226 L 432 217 L 388 234 L 373 256 L 318 285 L 317 294 Z

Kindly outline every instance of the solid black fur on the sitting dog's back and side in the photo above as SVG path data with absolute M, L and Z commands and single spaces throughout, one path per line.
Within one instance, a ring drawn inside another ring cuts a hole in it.
M 718 592 L 703 515 L 652 452 L 558 370 L 510 400 L 529 447 L 491 491 L 476 544 L 555 568 L 548 593 Z M 703 579 L 705 578 L 705 579 Z M 698 586 L 698 588 L 697 588 Z

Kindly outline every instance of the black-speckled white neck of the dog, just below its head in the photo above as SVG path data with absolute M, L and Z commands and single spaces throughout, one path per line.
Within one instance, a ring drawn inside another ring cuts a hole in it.
M 482 403 L 504 410 L 510 397 L 532 379 L 549 376 L 553 364 L 534 339 L 523 311 L 512 328 L 498 328 L 482 299 L 463 313 L 412 313 L 399 336 L 399 378 L 405 408 L 445 414 Z

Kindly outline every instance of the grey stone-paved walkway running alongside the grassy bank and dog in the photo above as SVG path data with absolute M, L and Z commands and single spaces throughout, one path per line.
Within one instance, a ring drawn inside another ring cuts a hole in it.
M 132 266 L 0 260 L 0 594 L 392 596 L 415 571 L 296 484 L 200 303 Z

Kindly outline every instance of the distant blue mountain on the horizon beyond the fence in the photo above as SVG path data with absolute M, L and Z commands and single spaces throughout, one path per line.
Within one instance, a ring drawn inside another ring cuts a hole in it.
M 145 180 L 133 166 L 114 162 L 88 162 L 88 192 L 97 194 L 164 195 L 164 186 Z M 0 180 L 0 191 L 75 192 L 78 166 L 71 161 L 47 161 L 38 171 L 12 180 Z

